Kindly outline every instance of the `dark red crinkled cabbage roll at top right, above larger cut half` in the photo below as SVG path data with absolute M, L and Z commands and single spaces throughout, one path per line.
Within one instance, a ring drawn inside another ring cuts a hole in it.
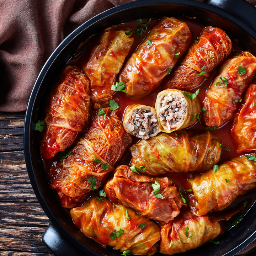
M 198 42 L 192 44 L 186 57 L 165 81 L 164 88 L 192 89 L 201 84 L 231 52 L 231 40 L 216 27 L 203 29 Z M 206 73 L 199 75 L 205 71 Z

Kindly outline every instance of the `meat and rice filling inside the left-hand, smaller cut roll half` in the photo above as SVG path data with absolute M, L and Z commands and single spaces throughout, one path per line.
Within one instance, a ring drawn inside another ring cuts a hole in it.
M 158 131 L 156 113 L 146 108 L 134 109 L 127 125 L 130 134 L 140 139 L 148 139 L 149 135 Z

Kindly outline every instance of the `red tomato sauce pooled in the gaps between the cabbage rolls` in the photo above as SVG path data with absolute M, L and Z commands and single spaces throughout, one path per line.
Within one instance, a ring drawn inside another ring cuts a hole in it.
M 182 19 L 180 19 L 182 20 Z M 149 28 L 153 28 L 156 23 L 158 22 L 159 20 L 155 20 L 153 19 L 150 23 L 149 23 Z M 187 23 L 188 27 L 190 28 L 190 31 L 192 32 L 193 34 L 193 37 L 194 39 L 197 39 L 201 33 L 201 31 L 203 30 L 203 28 L 205 26 L 203 25 L 200 25 L 198 23 L 195 23 L 193 21 L 188 21 L 188 20 L 183 20 Z M 147 23 L 148 22 L 148 19 L 143 19 L 142 20 L 142 23 Z M 132 22 L 129 22 L 129 23 L 126 23 L 126 24 L 121 24 L 121 25 L 117 25 L 115 26 L 115 30 L 119 30 L 119 29 L 131 29 L 131 30 L 134 30 L 136 27 L 139 27 L 139 23 L 137 21 L 132 21 Z M 138 37 L 134 34 L 134 43 L 133 43 L 133 46 L 132 48 L 130 49 L 130 52 L 128 54 L 128 56 L 126 57 L 126 60 L 124 62 L 124 64 L 126 63 L 126 61 L 128 60 L 128 58 L 130 58 L 130 56 L 132 55 L 132 53 L 135 51 L 135 49 L 137 49 L 139 43 L 141 43 L 144 38 L 147 36 L 149 31 L 145 32 L 142 34 L 142 37 L 140 39 L 138 39 Z M 95 40 L 97 40 L 98 36 L 95 35 L 92 37 L 92 40 L 88 40 L 89 42 L 87 43 L 86 47 L 84 47 L 84 49 L 82 51 L 80 51 L 80 53 L 78 53 L 69 63 L 67 63 L 67 65 L 76 65 L 78 66 L 79 68 L 82 68 L 82 66 L 86 63 L 86 61 L 88 60 L 88 56 L 89 56 L 89 53 L 90 53 L 90 48 L 91 47 L 94 47 L 94 42 Z M 193 40 L 194 40 L 193 39 Z M 194 41 L 192 41 L 193 43 Z M 191 44 L 192 44 L 191 43 Z M 241 49 L 239 49 L 238 47 L 236 47 L 235 45 L 235 42 L 232 42 L 232 51 L 231 51 L 231 54 L 229 55 L 228 58 L 232 58 L 234 56 L 236 56 L 236 54 L 241 54 Z M 186 53 L 185 53 L 186 54 Z M 183 55 L 184 57 L 184 55 Z M 182 58 L 179 59 L 178 63 L 182 60 Z M 225 61 L 225 60 L 224 60 Z M 176 66 L 178 65 L 178 63 L 176 64 Z M 124 65 L 123 65 L 124 66 Z M 176 67 L 175 66 L 175 67 Z M 198 94 L 198 98 L 199 98 L 199 101 L 201 102 L 201 107 L 203 107 L 203 101 L 204 101 L 204 98 L 205 98 L 205 94 L 206 94 L 206 90 L 210 87 L 213 79 L 218 75 L 219 73 L 219 68 L 220 66 L 218 66 L 218 68 L 212 72 L 212 74 L 210 75 L 210 77 L 208 79 L 205 79 L 204 82 L 193 88 L 191 91 L 194 93 L 196 92 L 196 90 L 200 89 L 199 91 L 199 94 Z M 121 69 L 122 71 L 122 69 Z M 120 71 L 120 72 L 121 72 Z M 169 75 L 167 75 L 164 79 L 168 78 Z M 161 81 L 161 85 L 156 88 L 153 92 L 151 92 L 151 94 L 149 96 L 146 96 L 143 100 L 139 100 L 139 101 L 135 101 L 133 100 L 132 97 L 127 97 L 126 94 L 124 92 L 115 92 L 113 94 L 113 100 L 115 100 L 116 102 L 118 102 L 118 105 L 119 105 L 119 113 L 118 113 L 118 117 L 123 120 L 123 114 L 124 114 L 124 111 L 126 110 L 127 106 L 129 105 L 132 105 L 134 103 L 136 104 L 144 104 L 144 105 L 147 105 L 147 106 L 152 106 L 154 107 L 155 106 L 155 101 L 156 101 L 156 96 L 158 95 L 158 93 L 163 90 L 162 89 L 162 85 L 163 85 L 163 81 L 164 79 Z M 256 79 L 254 79 L 252 82 L 256 82 Z M 207 88 L 205 88 L 205 87 Z M 175 88 L 176 89 L 176 88 Z M 243 96 L 244 94 L 242 94 Z M 238 107 L 239 108 L 239 107 Z M 91 109 L 93 110 L 93 109 Z M 92 113 L 92 112 L 91 112 Z M 92 117 L 95 116 L 95 113 L 92 113 L 90 118 L 89 118 L 89 122 L 91 122 L 92 120 Z M 189 131 L 192 131 L 192 132 L 205 132 L 206 131 L 206 124 L 204 123 L 203 121 L 203 117 L 202 117 L 202 112 L 200 114 L 200 120 L 201 120 L 201 124 L 199 124 L 199 122 L 197 121 L 192 127 L 189 127 L 187 128 L 186 130 L 189 130 Z M 231 133 L 230 133 L 230 130 L 232 128 L 232 124 L 233 124 L 233 118 L 231 118 L 231 120 L 229 120 L 227 123 L 225 123 L 223 126 L 217 128 L 216 130 L 210 130 L 212 133 L 217 133 L 221 136 L 222 138 L 222 144 L 223 144 L 223 148 L 222 148 L 222 152 L 221 152 L 221 155 L 220 155 L 220 160 L 218 162 L 218 165 L 220 165 L 222 162 L 224 161 L 227 161 L 227 160 L 230 160 L 234 157 L 237 157 L 239 156 L 237 153 L 236 153 L 236 146 L 235 146 L 235 143 L 233 144 L 232 142 L 232 138 L 231 138 Z M 88 125 L 87 125 L 88 126 Z M 87 129 L 87 126 L 84 128 L 83 132 L 86 131 Z M 137 143 L 140 139 L 133 137 L 133 143 Z M 76 143 L 76 141 L 74 142 L 74 144 Z M 225 148 L 228 147 L 230 148 L 229 151 L 226 151 Z M 44 160 L 45 161 L 45 160 Z M 57 162 L 58 161 L 58 164 L 59 164 L 59 159 L 58 159 L 58 156 L 55 156 L 54 158 L 50 159 L 50 160 L 47 160 L 45 161 L 45 164 L 46 164 L 46 169 L 48 169 L 48 167 L 50 165 L 52 165 L 52 162 Z M 123 157 L 122 157 L 122 160 L 119 161 L 116 165 L 121 165 L 121 164 L 125 164 L 125 165 L 129 165 L 131 162 L 131 154 L 129 152 L 129 149 L 124 153 Z M 192 178 L 193 176 L 196 176 L 198 174 L 200 174 L 202 172 L 188 172 L 188 173 L 174 173 L 174 174 L 163 174 L 163 175 L 159 175 L 160 177 L 168 177 L 170 178 L 173 183 L 177 186 L 177 187 L 181 187 L 182 191 L 184 190 L 190 190 L 191 189 L 191 186 L 188 184 L 188 179 L 189 178 Z M 48 173 L 49 175 L 49 173 Z M 110 176 L 112 177 L 113 174 Z M 48 177 L 49 180 L 51 179 L 51 177 Z M 102 189 L 102 187 L 100 188 Z M 96 191 L 97 193 L 98 191 Z M 92 193 L 89 193 L 88 196 L 85 197 L 85 200 L 87 198 L 89 198 L 90 196 L 92 195 Z M 191 199 L 193 198 L 193 195 L 192 193 L 188 192 L 187 193 L 187 196 L 190 197 Z M 241 196 L 239 198 L 237 198 L 235 200 L 235 202 L 233 202 L 228 208 L 226 208 L 227 210 L 228 209 L 233 209 L 235 208 L 238 204 L 241 204 L 241 202 L 247 200 L 249 201 L 249 203 L 247 204 L 246 208 L 242 211 L 243 214 L 245 214 L 249 209 L 250 207 L 252 206 L 252 204 L 255 202 L 255 199 L 256 199 L 256 195 L 255 195 L 255 192 L 249 192 L 247 193 L 246 195 L 244 196 Z M 82 204 L 82 203 L 81 203 Z M 68 213 L 69 213 L 69 209 L 65 209 Z M 222 228 L 224 231 L 228 230 L 229 228 L 231 228 L 231 225 L 226 222 L 226 221 L 221 221 L 220 222 Z

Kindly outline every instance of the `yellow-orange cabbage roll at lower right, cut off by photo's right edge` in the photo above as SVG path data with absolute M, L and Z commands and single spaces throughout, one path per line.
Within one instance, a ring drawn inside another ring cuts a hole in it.
M 194 193 L 194 198 L 190 197 L 193 214 L 217 212 L 256 187 L 256 161 L 245 156 L 234 158 L 221 164 L 215 173 L 211 169 L 188 182 Z

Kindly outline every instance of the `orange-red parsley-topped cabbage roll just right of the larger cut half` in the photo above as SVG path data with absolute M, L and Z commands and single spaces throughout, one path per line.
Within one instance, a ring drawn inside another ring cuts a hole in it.
M 221 126 L 233 117 L 242 92 L 256 75 L 256 58 L 243 54 L 225 62 L 206 92 L 203 118 L 207 126 Z

